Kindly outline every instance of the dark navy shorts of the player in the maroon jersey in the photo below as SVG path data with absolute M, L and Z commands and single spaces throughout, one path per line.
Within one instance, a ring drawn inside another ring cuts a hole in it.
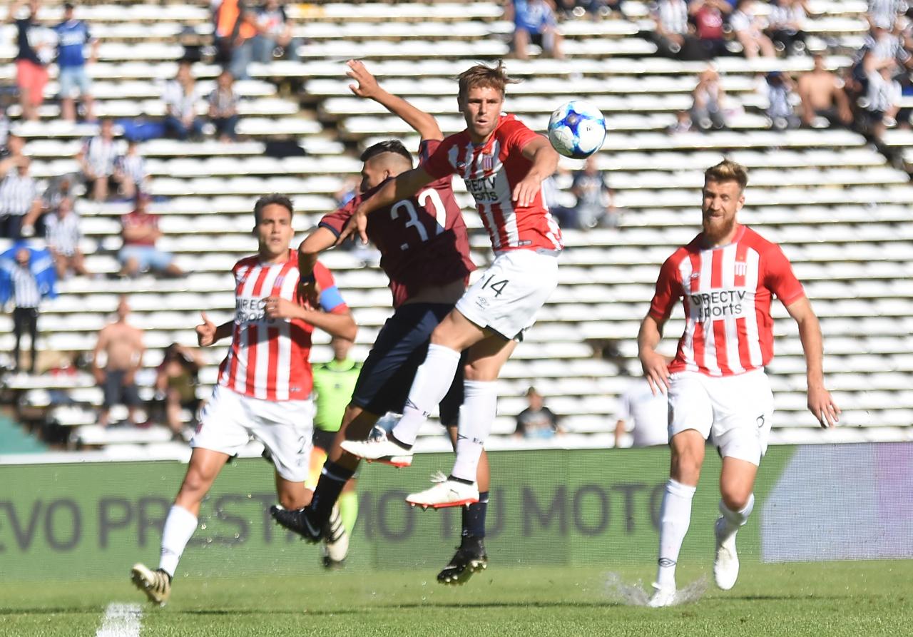
M 352 392 L 352 404 L 383 416 L 402 413 L 415 370 L 425 361 L 431 332 L 454 308 L 446 303 L 413 303 L 401 306 L 387 319 L 374 341 L 368 360 Z M 440 403 L 441 423 L 456 425 L 463 404 L 463 364 L 457 368 L 450 390 Z

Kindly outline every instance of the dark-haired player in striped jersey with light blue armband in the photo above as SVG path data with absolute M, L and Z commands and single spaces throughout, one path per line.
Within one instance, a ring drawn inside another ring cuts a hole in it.
M 254 207 L 256 256 L 232 268 L 235 277 L 235 319 L 216 326 L 203 314 L 196 327 L 201 346 L 231 337 L 218 384 L 200 416 L 191 446 L 184 484 L 174 498 L 162 533 L 159 568 L 136 564 L 131 579 L 149 600 L 163 604 L 184 547 L 194 535 L 200 503 L 226 461 L 251 439 L 266 447 L 276 467 L 279 502 L 306 506 L 314 407 L 310 400 L 311 333 L 320 328 L 332 336 L 354 339 L 352 314 L 326 267 L 314 267 L 320 299 L 299 292 L 296 253 L 289 248 L 294 230 L 288 197 L 270 194 Z M 319 307 L 318 307 L 319 305 Z M 338 515 L 324 538 L 343 555 L 347 547 Z M 331 547 L 328 547 L 331 548 Z

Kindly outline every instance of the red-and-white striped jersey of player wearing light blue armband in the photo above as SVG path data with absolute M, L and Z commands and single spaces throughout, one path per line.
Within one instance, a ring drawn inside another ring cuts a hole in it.
M 310 334 L 314 327 L 299 319 L 269 319 L 264 299 L 277 295 L 303 305 L 299 298 L 298 257 L 289 250 L 283 263 L 261 263 L 247 256 L 232 268 L 235 276 L 235 325 L 218 383 L 235 392 L 266 401 L 299 401 L 310 396 Z M 320 306 L 327 312 L 348 310 L 333 276 L 314 266 Z

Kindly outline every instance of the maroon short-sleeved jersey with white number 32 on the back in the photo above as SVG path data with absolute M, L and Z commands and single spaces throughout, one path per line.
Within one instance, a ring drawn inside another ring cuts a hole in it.
M 440 144 L 425 140 L 422 165 Z M 383 184 L 382 184 L 383 185 Z M 320 220 L 320 226 L 339 235 L 355 209 L 381 186 L 354 197 Z M 469 257 L 466 222 L 454 198 L 449 174 L 429 183 L 414 197 L 368 215 L 368 237 L 381 251 L 381 267 L 390 277 L 394 308 L 423 287 L 467 279 L 476 269 Z

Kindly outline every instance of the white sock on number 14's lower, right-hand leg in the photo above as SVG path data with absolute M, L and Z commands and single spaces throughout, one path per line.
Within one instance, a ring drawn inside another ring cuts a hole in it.
M 476 482 L 478 459 L 498 415 L 495 381 L 463 381 L 463 404 L 459 408 L 456 462 L 451 475 Z

